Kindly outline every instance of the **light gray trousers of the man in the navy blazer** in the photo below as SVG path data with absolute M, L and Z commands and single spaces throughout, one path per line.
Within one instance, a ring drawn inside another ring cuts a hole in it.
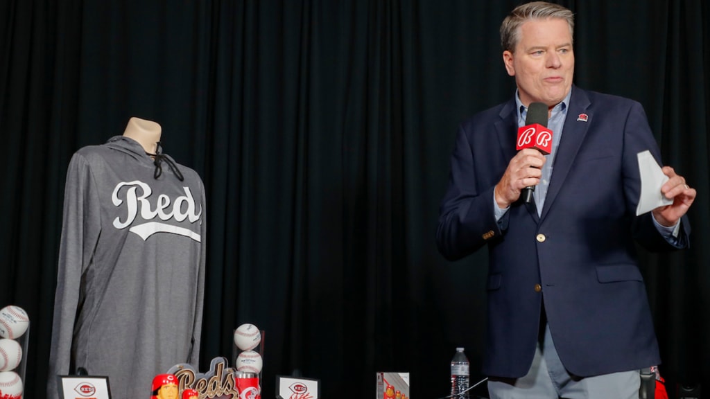
M 488 379 L 491 399 L 638 399 L 639 387 L 638 370 L 584 378 L 569 375 L 547 325 L 527 375 Z

